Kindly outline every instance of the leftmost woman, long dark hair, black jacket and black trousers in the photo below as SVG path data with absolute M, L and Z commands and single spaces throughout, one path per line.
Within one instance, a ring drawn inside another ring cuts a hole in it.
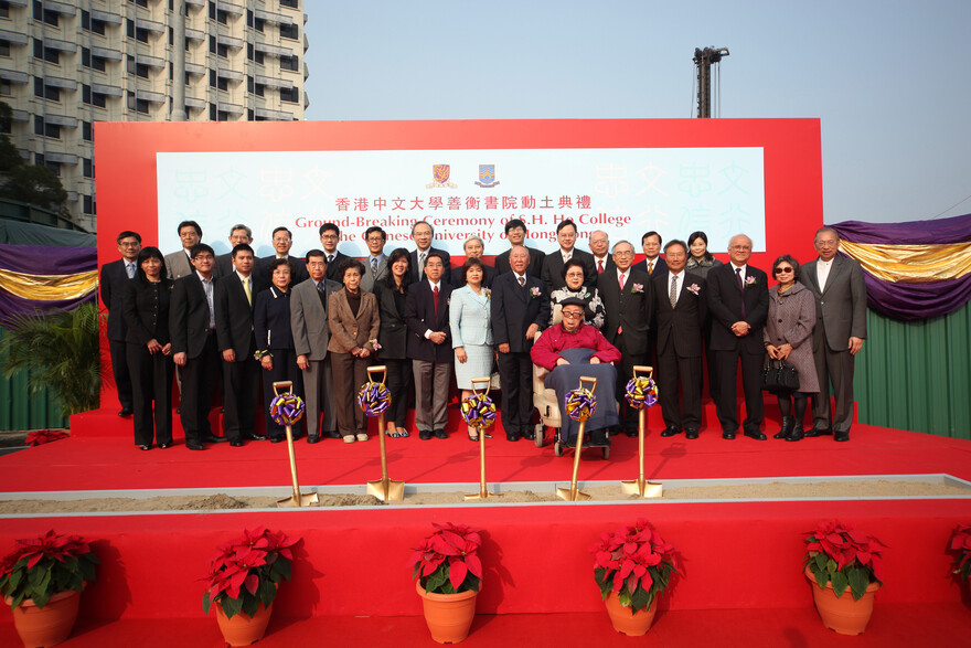
M 164 449 L 172 445 L 172 343 L 169 339 L 169 300 L 173 281 L 158 247 L 138 253 L 135 278 L 125 284 L 121 312 L 135 401 L 135 445 Z M 154 406 L 153 406 L 154 405 Z

